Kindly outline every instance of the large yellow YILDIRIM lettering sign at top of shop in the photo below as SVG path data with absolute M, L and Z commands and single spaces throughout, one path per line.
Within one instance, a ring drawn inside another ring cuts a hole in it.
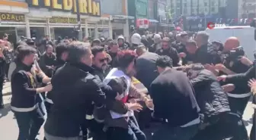
M 76 2 L 78 2 L 80 14 L 101 16 L 100 0 L 27 0 L 30 7 L 48 8 L 53 11 L 72 11 L 72 13 L 77 13 Z

